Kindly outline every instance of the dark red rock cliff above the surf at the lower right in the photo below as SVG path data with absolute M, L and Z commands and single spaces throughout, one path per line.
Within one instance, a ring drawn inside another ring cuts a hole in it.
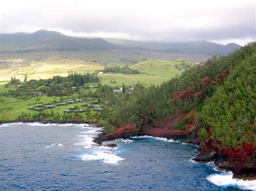
M 211 132 L 210 126 L 207 128 Z M 240 143 L 238 147 L 224 146 L 211 138 L 207 138 L 201 145 L 200 154 L 195 161 L 214 161 L 223 169 L 234 172 L 234 178 L 256 179 L 256 147 L 252 143 Z

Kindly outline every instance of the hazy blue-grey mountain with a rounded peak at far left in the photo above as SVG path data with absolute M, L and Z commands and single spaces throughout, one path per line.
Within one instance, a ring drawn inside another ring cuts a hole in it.
M 56 31 L 0 34 L 0 52 L 82 51 L 120 48 L 101 38 L 87 39 L 65 36 Z

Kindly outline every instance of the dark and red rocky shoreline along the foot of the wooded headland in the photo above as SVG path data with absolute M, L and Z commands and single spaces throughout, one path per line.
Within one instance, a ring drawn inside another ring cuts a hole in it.
M 132 128 L 133 127 L 133 128 Z M 121 129 L 122 128 L 122 129 Z M 151 128 L 145 130 L 136 130 L 132 124 L 121 127 L 117 125 L 114 133 L 104 135 L 100 133 L 94 139 L 94 142 L 102 145 L 103 142 L 120 139 L 131 138 L 134 136 L 150 135 L 152 137 L 162 137 L 167 139 L 183 139 L 187 144 L 199 146 L 200 153 L 193 159 L 196 162 L 212 162 L 221 171 L 233 172 L 233 178 L 243 180 L 256 180 L 256 147 L 252 144 L 244 143 L 238 148 L 223 147 L 220 143 L 215 143 L 211 139 L 207 139 L 203 144 L 198 138 L 197 129 L 186 133 L 178 133 L 177 131 L 166 130 L 165 134 L 153 133 L 153 130 L 158 128 Z M 156 131 L 158 132 L 158 131 Z

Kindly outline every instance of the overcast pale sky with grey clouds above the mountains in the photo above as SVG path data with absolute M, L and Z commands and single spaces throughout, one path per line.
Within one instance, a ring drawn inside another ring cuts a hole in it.
M 55 30 L 69 36 L 246 44 L 255 1 L 1 0 L 0 32 Z

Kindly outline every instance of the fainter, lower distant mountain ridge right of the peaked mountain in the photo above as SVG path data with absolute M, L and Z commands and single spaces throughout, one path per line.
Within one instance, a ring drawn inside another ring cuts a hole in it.
M 208 41 L 193 41 L 189 43 L 146 43 L 134 40 L 125 40 L 125 39 L 115 39 L 115 38 L 103 38 L 109 43 L 147 49 L 151 51 L 161 51 L 161 52 L 180 52 L 180 53 L 191 53 L 191 54 L 224 54 L 227 55 L 230 52 L 233 52 L 234 49 L 238 49 L 241 46 L 235 43 L 230 43 L 227 45 L 220 45 L 216 43 L 211 43 Z

